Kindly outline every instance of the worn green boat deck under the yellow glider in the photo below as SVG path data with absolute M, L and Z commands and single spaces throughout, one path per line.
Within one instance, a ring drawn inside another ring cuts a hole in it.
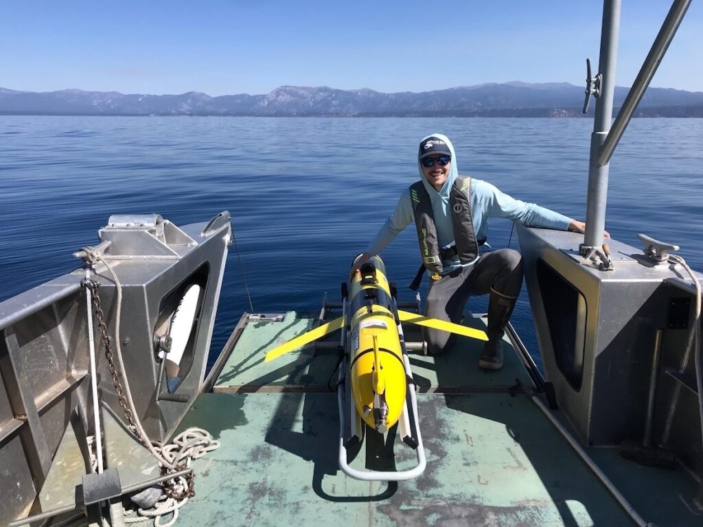
M 507 339 L 498 372 L 479 370 L 482 343 L 463 337 L 442 356 L 411 353 L 427 469 L 398 483 L 349 478 L 337 463 L 337 394 L 328 388 L 334 346 L 264 363 L 268 349 L 314 322 L 289 312 L 247 323 L 212 393 L 193 403 L 181 429 L 205 428 L 221 446 L 195 460 L 196 495 L 178 525 L 636 525 L 529 396 L 511 393 L 518 380 L 534 385 Z M 465 323 L 484 327 L 480 318 Z M 418 339 L 408 330 L 408 341 Z M 377 470 L 415 462 L 411 448 L 375 431 L 355 454 L 354 463 Z M 697 488 L 681 469 L 640 467 L 614 449 L 589 455 L 646 521 L 703 523 L 683 506 Z

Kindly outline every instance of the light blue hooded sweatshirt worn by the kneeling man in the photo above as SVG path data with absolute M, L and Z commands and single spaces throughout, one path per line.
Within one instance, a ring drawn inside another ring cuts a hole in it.
M 424 137 L 422 141 L 430 137 L 437 137 L 444 141 L 451 151 L 451 165 L 449 168 L 449 176 L 442 188 L 437 192 L 423 174 L 423 167 L 418 159 L 418 171 L 420 172 L 420 181 L 423 182 L 427 195 L 430 196 L 432 203 L 432 212 L 434 213 L 434 224 L 437 226 L 437 240 L 439 247 L 449 247 L 454 243 L 454 232 L 451 222 L 451 213 L 449 211 L 449 192 L 451 186 L 458 176 L 458 164 L 456 160 L 456 152 L 454 146 L 449 141 L 449 138 L 442 134 L 430 134 Z M 477 240 L 486 240 L 488 238 L 488 219 L 489 218 L 507 218 L 512 221 L 519 221 L 527 227 L 542 227 L 557 230 L 567 230 L 571 219 L 550 209 L 539 207 L 534 203 L 526 203 L 524 201 L 515 200 L 507 194 L 502 193 L 496 187 L 482 181 L 480 179 L 471 178 L 470 196 L 471 214 L 474 224 L 474 232 Z M 366 248 L 369 254 L 379 254 L 387 245 L 393 241 L 396 235 L 404 228 L 415 221 L 413 214 L 413 204 L 410 199 L 410 187 L 406 188 L 401 195 L 396 209 L 391 214 L 386 223 L 378 231 L 378 234 Z M 464 263 L 464 266 L 470 266 L 474 261 Z M 461 266 L 458 256 L 446 260 L 444 269 L 446 272 Z

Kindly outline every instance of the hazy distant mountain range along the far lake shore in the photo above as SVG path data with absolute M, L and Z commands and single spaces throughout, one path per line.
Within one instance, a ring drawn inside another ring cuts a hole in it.
M 628 89 L 615 89 L 615 106 Z M 0 88 L 4 115 L 223 115 L 257 117 L 581 117 L 583 86 L 568 83 L 479 84 L 446 90 L 380 93 L 326 86 L 281 86 L 266 95 L 210 97 L 124 95 L 77 89 L 32 92 Z M 593 115 L 595 102 L 591 101 Z M 647 89 L 636 117 L 703 117 L 703 92 Z

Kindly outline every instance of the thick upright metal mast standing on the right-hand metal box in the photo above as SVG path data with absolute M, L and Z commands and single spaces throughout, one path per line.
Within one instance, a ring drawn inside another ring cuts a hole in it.
M 615 67 L 620 30 L 620 0 L 603 2 L 603 22 L 600 32 L 598 71 L 602 74 L 600 95 L 595 101 L 595 119 L 591 134 L 591 161 L 588 165 L 588 197 L 586 202 L 586 235 L 581 253 L 587 254 L 603 243 L 605 203 L 608 190 L 609 164 L 598 164 L 600 148 L 605 143 L 612 121 Z

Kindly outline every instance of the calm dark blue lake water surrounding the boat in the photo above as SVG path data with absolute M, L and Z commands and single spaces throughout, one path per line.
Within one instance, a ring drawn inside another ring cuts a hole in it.
M 77 267 L 111 214 L 176 225 L 232 215 L 254 310 L 317 311 L 418 178 L 420 138 L 453 141 L 460 173 L 585 219 L 591 119 L 0 117 L 0 301 Z M 607 224 L 681 245 L 703 269 L 703 119 L 634 119 L 610 163 Z M 491 220 L 505 247 L 512 223 Z M 515 237 L 510 242 L 517 247 Z M 420 262 L 414 228 L 383 253 L 404 287 Z M 231 248 L 212 353 L 249 311 Z M 424 280 L 425 287 L 427 280 Z M 423 298 L 425 290 L 421 289 Z M 471 299 L 485 311 L 486 299 Z M 527 292 L 512 322 L 536 353 Z

